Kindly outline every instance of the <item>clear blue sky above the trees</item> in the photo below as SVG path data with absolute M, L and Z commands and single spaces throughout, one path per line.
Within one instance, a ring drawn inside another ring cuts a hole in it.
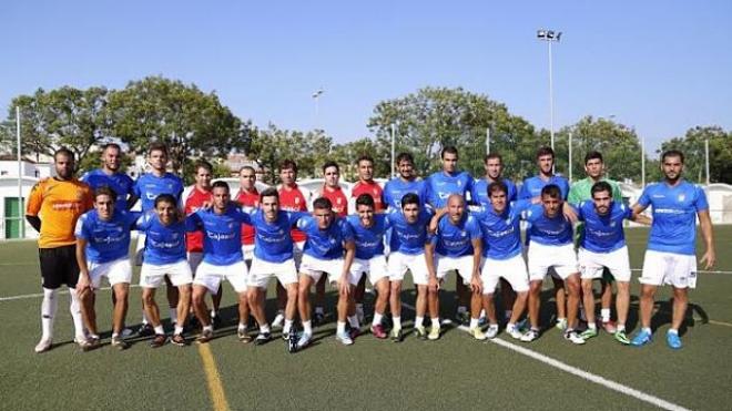
M 382 100 L 464 86 L 548 127 L 614 115 L 649 146 L 732 129 L 732 1 L 3 1 L 0 104 L 151 74 L 215 90 L 243 119 L 368 135 Z M 311 94 L 325 89 L 319 115 Z M 317 124 L 316 124 L 317 122 Z

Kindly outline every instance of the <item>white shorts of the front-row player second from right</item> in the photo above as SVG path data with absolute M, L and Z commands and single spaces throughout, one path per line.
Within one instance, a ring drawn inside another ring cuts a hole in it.
M 565 280 L 572 274 L 579 273 L 575 245 L 548 246 L 536 242 L 529 243 L 529 280 L 540 281 L 553 267 L 557 276 Z

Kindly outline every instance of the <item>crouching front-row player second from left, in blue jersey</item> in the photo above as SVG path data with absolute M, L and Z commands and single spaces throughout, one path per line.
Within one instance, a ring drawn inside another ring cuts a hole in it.
M 201 179 L 201 171 L 204 168 L 197 169 L 196 178 Z M 136 228 L 145 234 L 140 287 L 142 287 L 145 312 L 155 331 L 155 337 L 150 341 L 152 348 L 162 347 L 167 341 L 165 330 L 160 322 L 160 308 L 155 302 L 155 289 L 163 284 L 165 277 L 177 287 L 181 296 L 177 304 L 177 322 L 174 325 L 171 341 L 179 347 L 185 346 L 183 326 L 191 307 L 193 275 L 185 255 L 185 220 L 180 213 L 175 197 L 161 194 L 155 198 L 154 213 L 149 212 L 138 219 Z

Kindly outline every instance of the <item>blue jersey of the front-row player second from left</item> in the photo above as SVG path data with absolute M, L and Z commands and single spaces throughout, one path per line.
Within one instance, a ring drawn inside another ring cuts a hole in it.
M 138 219 L 138 230 L 145 234 L 145 264 L 162 266 L 185 260 L 185 222 L 164 225 L 154 212 Z

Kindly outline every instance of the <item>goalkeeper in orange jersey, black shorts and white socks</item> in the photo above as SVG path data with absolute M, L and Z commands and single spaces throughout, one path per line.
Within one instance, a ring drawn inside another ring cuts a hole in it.
M 91 189 L 73 177 L 74 155 L 68 148 L 53 154 L 57 176 L 38 182 L 33 186 L 26 208 L 26 219 L 40 234 L 38 257 L 43 279 L 41 302 L 41 340 L 35 352 L 51 349 L 53 322 L 58 310 L 58 294 L 61 285 L 69 287 L 71 318 L 75 329 L 75 341 L 84 343 L 84 325 L 77 295 L 79 264 L 77 263 L 77 219 L 92 207 Z

